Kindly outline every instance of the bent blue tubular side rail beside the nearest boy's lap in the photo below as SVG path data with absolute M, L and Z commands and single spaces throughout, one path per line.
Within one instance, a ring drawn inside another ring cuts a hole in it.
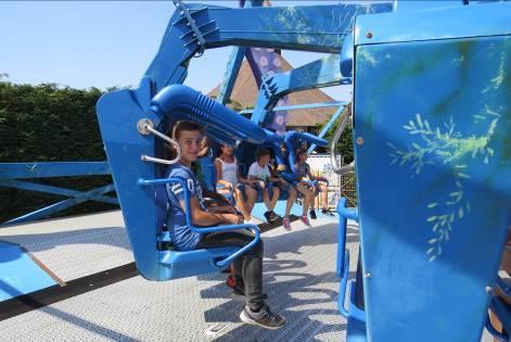
M 195 227 L 192 224 L 191 213 L 190 213 L 190 193 L 188 190 L 187 182 L 181 178 L 165 178 L 165 179 L 139 179 L 139 186 L 157 186 L 157 185 L 167 185 L 170 182 L 179 182 L 184 190 L 184 216 L 187 219 L 187 225 L 190 227 L 191 230 L 196 231 L 201 235 L 206 232 L 219 232 L 219 231 L 231 231 L 231 230 L 240 230 L 248 228 L 254 232 L 254 240 L 252 240 L 248 244 L 242 246 L 228 257 L 217 261 L 216 266 L 223 268 L 225 266 L 229 265 L 233 259 L 245 253 L 246 251 L 254 248 L 260 239 L 259 228 L 256 225 L 244 224 L 244 225 L 226 225 L 219 227 L 210 227 L 210 228 L 203 228 L 203 227 Z

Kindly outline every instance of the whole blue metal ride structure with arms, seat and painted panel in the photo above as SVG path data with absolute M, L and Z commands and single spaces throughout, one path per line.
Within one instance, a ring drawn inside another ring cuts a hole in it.
M 143 277 L 167 280 L 210 271 L 243 252 L 192 255 L 161 248 L 169 242 L 162 230 L 168 179 L 152 161 L 170 163 L 162 160 L 158 139 L 176 121 L 207 125 L 210 138 L 229 144 L 293 147 L 299 138 L 324 144 L 316 137 L 281 137 L 261 127 L 269 123 L 266 114 L 276 98 L 302 89 L 293 73 L 263 81 L 250 121 L 179 86 L 189 60 L 204 49 L 230 45 L 240 47 L 233 64 L 245 47 L 328 52 L 341 55 L 309 66 L 316 76 L 322 71 L 334 76 L 312 77 L 305 85 L 354 84 L 359 207 L 346 210 L 340 202 L 337 255 L 338 305 L 348 319 L 348 341 L 477 341 L 491 300 L 511 331 L 509 315 L 491 295 L 511 223 L 511 4 L 404 1 L 228 9 L 175 2 L 178 12 L 139 88 L 105 94 L 98 103 Z M 222 103 L 235 68 L 228 68 Z M 344 127 L 347 117 L 342 121 Z M 290 159 L 292 168 L 293 153 Z M 349 287 L 346 218 L 360 225 L 359 277 Z M 192 264 L 191 271 L 187 265 Z M 508 339 L 506 332 L 498 337 Z

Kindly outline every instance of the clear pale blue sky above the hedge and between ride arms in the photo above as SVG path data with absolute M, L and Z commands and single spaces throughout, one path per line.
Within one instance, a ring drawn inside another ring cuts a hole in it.
M 238 7 L 238 0 L 196 2 Z M 0 1 L 0 74 L 7 73 L 15 84 L 54 83 L 103 90 L 136 87 L 174 12 L 171 1 Z M 206 50 L 202 58 L 193 59 L 184 84 L 207 93 L 221 81 L 231 49 Z M 295 67 L 322 55 L 283 51 Z M 323 90 L 336 100 L 347 100 L 350 88 Z

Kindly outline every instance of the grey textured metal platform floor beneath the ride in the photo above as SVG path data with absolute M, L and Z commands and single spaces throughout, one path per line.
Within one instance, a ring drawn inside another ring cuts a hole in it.
M 0 230 L 67 281 L 132 262 L 119 212 L 47 220 Z M 140 276 L 0 321 L 0 341 L 345 341 L 335 277 L 336 221 L 293 223 L 263 233 L 268 304 L 288 324 L 277 331 L 242 325 L 226 275 L 167 282 Z M 352 270 L 358 228 L 348 225 Z M 483 341 L 490 341 L 485 333 Z

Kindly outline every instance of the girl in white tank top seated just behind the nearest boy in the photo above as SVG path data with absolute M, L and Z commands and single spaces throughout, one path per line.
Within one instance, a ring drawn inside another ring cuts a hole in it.
M 227 193 L 232 193 L 237 208 L 248 221 L 252 218 L 251 214 L 257 200 L 257 192 L 251 186 L 251 183 L 254 183 L 253 180 L 250 181 L 241 177 L 233 152 L 232 147 L 220 144 L 220 155 L 215 160 L 217 191 L 222 193 L 227 190 Z

